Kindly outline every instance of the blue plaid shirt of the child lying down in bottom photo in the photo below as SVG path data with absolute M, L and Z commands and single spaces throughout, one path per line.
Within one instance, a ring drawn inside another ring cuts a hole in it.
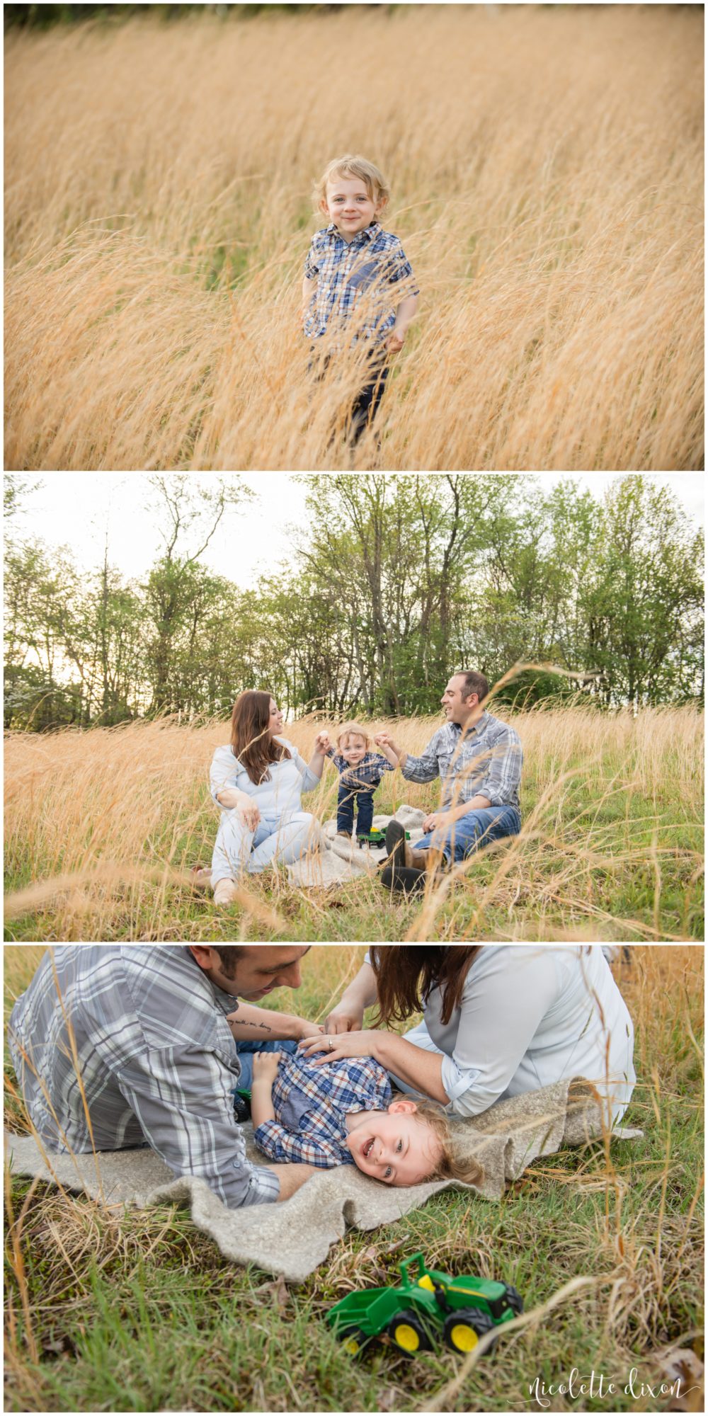
M 391 1096 L 388 1073 L 374 1058 L 314 1066 L 314 1058 L 283 1054 L 273 1083 L 276 1119 L 256 1127 L 255 1143 L 275 1161 L 306 1161 L 320 1170 L 354 1165 L 347 1114 L 384 1112 Z

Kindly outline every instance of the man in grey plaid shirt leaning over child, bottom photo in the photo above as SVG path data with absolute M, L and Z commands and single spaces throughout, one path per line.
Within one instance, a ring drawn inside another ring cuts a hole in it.
M 64 1153 L 152 1146 L 174 1175 L 204 1180 L 229 1208 L 287 1199 L 313 1167 L 252 1165 L 232 1093 L 239 1042 L 320 1032 L 253 1007 L 273 988 L 300 987 L 307 947 L 48 949 L 8 1024 L 41 1143 Z

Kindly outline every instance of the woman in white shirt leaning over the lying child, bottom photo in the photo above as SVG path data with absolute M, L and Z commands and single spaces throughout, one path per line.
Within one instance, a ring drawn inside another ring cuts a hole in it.
M 364 1012 L 378 1004 L 378 1027 Z M 422 1022 L 387 1031 L 415 1012 Z M 375 1056 L 402 1090 L 476 1116 L 496 1102 L 583 1076 L 624 1113 L 634 1029 L 599 944 L 389 944 L 371 949 L 330 1012 L 321 1063 Z

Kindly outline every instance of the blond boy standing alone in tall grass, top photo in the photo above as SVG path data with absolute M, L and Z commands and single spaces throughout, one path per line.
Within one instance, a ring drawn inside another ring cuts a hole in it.
M 418 286 L 401 241 L 379 225 L 389 191 L 374 163 L 334 157 L 314 195 L 329 225 L 312 238 L 304 262 L 304 334 L 313 350 L 327 347 L 324 364 L 343 346 L 365 341 L 368 377 L 351 408 L 357 442 L 375 418 L 388 357 L 402 348 Z

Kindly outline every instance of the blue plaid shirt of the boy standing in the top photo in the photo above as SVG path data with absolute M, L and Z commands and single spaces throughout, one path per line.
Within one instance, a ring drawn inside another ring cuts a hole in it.
M 406 295 L 418 295 L 399 238 L 378 221 L 357 231 L 353 241 L 344 241 L 334 222 L 317 231 L 304 275 L 317 280 L 304 312 L 304 333 L 312 340 L 321 338 L 330 324 L 353 324 L 353 343 L 357 337 L 379 343 L 395 324 L 395 306 Z

